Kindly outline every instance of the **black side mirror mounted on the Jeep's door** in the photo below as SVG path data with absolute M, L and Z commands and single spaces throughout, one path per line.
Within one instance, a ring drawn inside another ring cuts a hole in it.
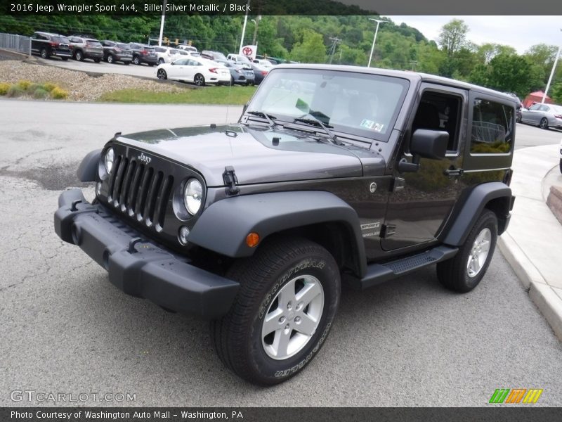
M 417 172 L 419 170 L 419 159 L 429 158 L 430 160 L 440 160 L 445 158 L 449 134 L 445 131 L 431 129 L 416 129 L 410 141 L 410 153 L 414 156 L 412 162 L 407 162 L 405 158 L 398 162 L 398 171 Z

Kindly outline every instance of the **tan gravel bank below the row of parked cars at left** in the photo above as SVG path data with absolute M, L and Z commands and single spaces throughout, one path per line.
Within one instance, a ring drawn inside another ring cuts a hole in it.
M 116 74 L 88 74 L 44 66 L 33 61 L 1 60 L 0 82 L 14 83 L 20 80 L 34 83 L 53 82 L 68 91 L 68 101 L 96 101 L 105 92 L 119 89 L 146 89 L 158 92 L 181 92 L 189 87 L 150 81 L 139 77 Z

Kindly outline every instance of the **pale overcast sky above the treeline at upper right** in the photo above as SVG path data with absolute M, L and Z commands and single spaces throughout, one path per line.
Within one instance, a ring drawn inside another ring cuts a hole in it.
M 386 16 L 396 25 L 417 28 L 427 39 L 437 41 L 443 25 L 462 19 L 469 25 L 466 35 L 475 44 L 493 42 L 514 47 L 519 54 L 535 44 L 562 44 L 562 16 Z M 384 24 L 381 25 L 384 27 Z M 379 31 L 381 29 L 379 28 Z

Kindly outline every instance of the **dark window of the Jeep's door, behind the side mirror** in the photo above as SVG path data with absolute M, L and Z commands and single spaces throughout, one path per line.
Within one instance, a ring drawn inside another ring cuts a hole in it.
M 462 98 L 451 94 L 425 91 L 412 122 L 412 134 L 416 129 L 432 129 L 449 134 L 447 153 L 459 148 L 459 127 Z

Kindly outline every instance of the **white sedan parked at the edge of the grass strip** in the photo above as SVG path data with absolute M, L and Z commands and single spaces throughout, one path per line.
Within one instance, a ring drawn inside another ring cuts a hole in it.
M 180 58 L 172 63 L 162 63 L 156 68 L 158 79 L 205 84 L 230 84 L 230 71 L 223 65 L 205 58 Z

